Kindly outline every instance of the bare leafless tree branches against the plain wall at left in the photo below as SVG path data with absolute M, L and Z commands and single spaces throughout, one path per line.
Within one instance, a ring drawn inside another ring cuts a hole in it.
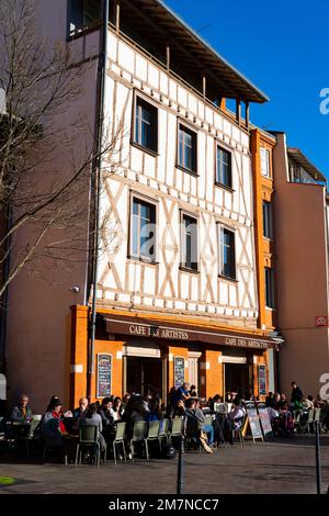
M 35 13 L 33 0 L 0 2 L 0 268 L 11 256 L 0 298 L 23 268 L 42 274 L 49 260 L 63 267 L 87 259 L 92 170 L 103 154 L 110 172 L 118 166 L 123 138 L 118 122 L 101 149 L 90 145 L 94 127 L 72 105 L 92 59 L 77 64 L 66 43 L 52 47 Z

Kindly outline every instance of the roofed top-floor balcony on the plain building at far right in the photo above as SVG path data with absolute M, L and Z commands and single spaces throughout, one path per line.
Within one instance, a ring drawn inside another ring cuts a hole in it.
M 290 182 L 305 184 L 327 184 L 325 176 L 304 156 L 298 148 L 288 147 Z

